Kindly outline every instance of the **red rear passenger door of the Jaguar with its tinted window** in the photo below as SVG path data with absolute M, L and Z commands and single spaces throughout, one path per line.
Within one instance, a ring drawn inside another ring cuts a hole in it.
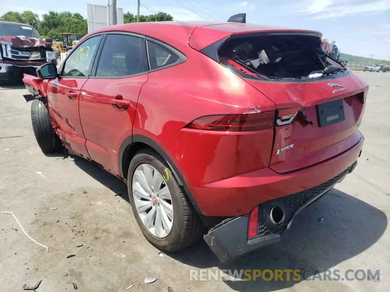
M 90 158 L 116 175 L 119 148 L 132 135 L 147 71 L 144 37 L 108 34 L 96 72 L 80 93 L 80 119 Z

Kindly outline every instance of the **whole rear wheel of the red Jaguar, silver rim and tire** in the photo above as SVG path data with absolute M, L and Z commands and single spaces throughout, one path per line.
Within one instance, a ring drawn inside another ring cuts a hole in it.
M 130 162 L 129 201 L 145 238 L 156 248 L 176 251 L 195 243 L 204 225 L 165 160 L 144 149 Z

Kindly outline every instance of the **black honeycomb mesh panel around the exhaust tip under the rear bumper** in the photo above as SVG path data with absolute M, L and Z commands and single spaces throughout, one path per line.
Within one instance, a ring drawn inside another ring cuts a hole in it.
M 302 192 L 293 193 L 291 195 L 287 195 L 284 197 L 280 197 L 271 201 L 264 202 L 260 205 L 259 212 L 259 225 L 258 225 L 258 233 L 257 237 L 266 236 L 272 233 L 281 233 L 287 227 L 287 224 L 292 219 L 294 213 L 303 206 L 306 202 L 310 201 L 316 195 L 324 192 L 330 187 L 333 187 L 342 177 L 346 176 L 349 169 L 341 172 L 339 175 L 335 176 L 332 179 L 322 183 L 321 185 L 314 186 L 309 188 L 308 190 L 304 190 Z M 269 211 L 275 205 L 282 206 L 285 212 L 285 220 L 284 223 L 280 226 L 277 232 L 271 231 L 266 224 L 266 220 L 269 215 Z

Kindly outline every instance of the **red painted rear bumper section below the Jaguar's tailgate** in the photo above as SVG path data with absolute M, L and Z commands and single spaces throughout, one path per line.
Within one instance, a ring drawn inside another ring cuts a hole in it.
M 262 202 L 298 193 L 334 178 L 360 156 L 363 136 L 348 150 L 298 171 L 278 174 L 269 167 L 214 181 L 196 188 L 197 204 L 206 216 L 239 216 Z

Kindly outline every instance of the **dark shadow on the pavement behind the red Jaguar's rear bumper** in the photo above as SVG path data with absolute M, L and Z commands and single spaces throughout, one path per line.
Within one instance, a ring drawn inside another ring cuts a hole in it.
M 180 252 L 168 253 L 179 262 L 195 268 L 246 270 L 331 269 L 372 246 L 385 232 L 385 213 L 340 190 L 333 189 L 294 220 L 281 241 L 221 264 L 202 240 Z M 351 267 L 359 269 L 359 267 Z M 341 274 L 341 273 L 340 273 Z M 309 277 L 310 273 L 306 276 Z M 269 274 L 268 274 L 269 276 Z M 319 275 L 320 276 L 320 275 Z M 245 277 L 245 276 L 244 276 Z M 276 291 L 300 281 L 224 281 L 236 291 Z

